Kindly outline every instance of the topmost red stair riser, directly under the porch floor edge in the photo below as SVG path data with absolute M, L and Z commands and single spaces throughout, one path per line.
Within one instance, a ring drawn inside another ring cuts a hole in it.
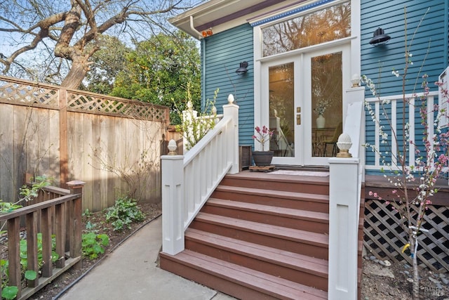
M 242 188 L 257 188 L 260 190 L 285 190 L 295 193 L 309 193 L 316 195 L 329 195 L 329 184 L 310 183 L 310 182 L 288 182 L 288 181 L 276 181 L 276 180 L 263 180 L 257 178 L 257 180 L 250 180 L 244 178 L 223 178 L 220 185 L 239 186 Z

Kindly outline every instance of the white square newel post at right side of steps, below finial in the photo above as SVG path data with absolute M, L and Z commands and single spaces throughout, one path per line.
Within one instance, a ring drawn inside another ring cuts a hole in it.
M 358 158 L 330 158 L 328 299 L 357 299 Z M 342 176 L 344 174 L 344 176 Z

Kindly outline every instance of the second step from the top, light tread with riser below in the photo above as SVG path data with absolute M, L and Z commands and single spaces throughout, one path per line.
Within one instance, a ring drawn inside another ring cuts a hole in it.
M 210 198 L 201 211 L 314 233 L 329 233 L 329 214 L 322 212 L 215 198 Z

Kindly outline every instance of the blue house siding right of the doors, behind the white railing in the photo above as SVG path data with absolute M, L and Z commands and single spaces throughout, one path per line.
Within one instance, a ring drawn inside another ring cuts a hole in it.
M 410 65 L 408 69 L 406 93 L 422 92 L 422 74 L 429 75 L 429 87 L 431 91 L 437 91 L 434 82 L 438 81 L 438 75 L 448 65 L 447 0 L 363 0 L 361 1 L 361 73 L 373 79 L 377 91 L 380 91 L 380 96 L 402 94 L 401 77 L 395 77 L 391 74 L 391 71 L 397 70 L 400 74 L 403 74 L 405 65 L 405 7 L 408 45 L 413 39 L 409 48 L 410 53 L 413 54 L 411 58 L 413 65 Z M 424 17 L 428 8 L 429 11 Z M 424 19 L 417 29 L 423 17 Z M 388 44 L 377 47 L 369 44 L 377 27 L 382 27 L 385 33 L 391 37 Z M 416 29 L 417 32 L 415 33 Z M 422 65 L 424 60 L 424 65 Z M 416 81 L 417 77 L 419 78 Z M 367 90 L 366 97 L 371 98 L 373 95 Z M 398 103 L 397 112 L 399 124 L 402 117 L 401 103 Z M 422 126 L 418 110 L 415 111 L 415 118 L 415 126 L 420 129 Z M 366 142 L 373 144 L 375 126 L 368 112 L 366 113 L 366 119 Z M 383 122 L 383 124 L 386 124 L 386 122 Z M 397 133 L 401 135 L 401 131 Z M 415 137 L 415 141 L 421 140 L 422 136 Z M 366 164 L 374 164 L 374 159 L 374 153 L 371 150 L 366 150 Z

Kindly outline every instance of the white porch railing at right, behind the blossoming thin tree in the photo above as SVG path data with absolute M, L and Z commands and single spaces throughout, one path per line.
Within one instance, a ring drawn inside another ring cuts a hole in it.
M 427 96 L 427 110 L 428 110 L 428 114 L 432 114 L 431 110 L 434 109 L 434 101 L 435 101 L 435 97 L 438 96 L 438 92 L 437 91 L 433 91 L 430 92 L 429 95 Z M 416 112 L 415 112 L 415 98 L 417 98 L 417 96 L 414 96 L 412 94 L 408 94 L 406 95 L 406 98 L 409 99 L 409 104 L 407 107 L 407 111 L 408 111 L 408 117 L 406 119 L 406 122 L 408 122 L 408 124 L 410 125 L 409 127 L 409 133 L 410 133 L 410 141 L 416 141 L 416 133 L 417 133 L 417 129 L 415 128 L 415 117 L 416 116 Z M 387 97 L 381 97 L 381 98 L 367 98 L 366 99 L 368 101 L 368 103 L 370 103 L 371 107 L 373 107 L 373 111 L 375 113 L 375 117 L 376 119 L 384 119 L 384 117 L 382 117 L 382 114 L 384 113 L 382 111 L 382 102 L 387 101 L 389 102 L 388 106 L 389 106 L 389 112 L 390 114 L 387 116 L 390 121 L 391 121 L 391 129 L 384 129 L 384 131 L 386 131 L 387 133 L 389 133 L 389 137 L 391 138 L 391 136 L 393 136 L 393 133 L 397 133 L 398 129 L 397 129 L 397 124 L 398 124 L 398 119 L 396 117 L 396 115 L 399 113 L 398 111 L 398 103 L 403 103 L 403 96 L 402 95 L 397 95 L 397 96 L 387 96 Z M 432 115 L 433 116 L 433 115 Z M 399 120 L 400 124 L 402 123 L 401 120 Z M 388 126 L 387 121 L 384 121 L 381 125 L 384 126 Z M 379 128 L 379 124 L 375 124 L 375 132 L 374 132 L 374 143 L 373 146 L 376 149 L 381 149 L 381 138 L 380 138 L 380 128 Z M 402 125 L 401 125 L 402 126 Z M 402 129 L 401 129 L 402 130 Z M 422 129 L 420 129 L 420 131 L 422 131 Z M 427 131 L 427 136 L 429 137 L 429 143 L 431 143 L 431 145 L 433 144 L 432 141 L 432 136 L 434 136 L 434 126 L 428 126 L 428 131 Z M 391 166 L 394 167 L 396 165 L 396 157 L 397 157 L 397 151 L 396 151 L 396 141 L 394 141 L 394 138 L 391 139 L 391 141 L 389 141 L 390 143 L 390 149 L 389 151 L 389 157 L 385 157 L 385 159 L 387 161 L 389 161 L 391 163 Z M 382 169 L 382 167 L 384 167 L 384 164 L 382 163 L 382 157 L 380 157 L 380 154 L 378 152 L 374 152 L 375 156 L 374 156 L 374 162 L 370 162 L 370 164 L 366 164 L 365 168 L 367 170 L 380 170 Z M 408 155 L 408 162 L 410 165 L 415 164 L 415 145 L 408 143 L 408 151 L 406 152 L 406 155 Z M 416 166 L 415 166 L 416 167 Z

